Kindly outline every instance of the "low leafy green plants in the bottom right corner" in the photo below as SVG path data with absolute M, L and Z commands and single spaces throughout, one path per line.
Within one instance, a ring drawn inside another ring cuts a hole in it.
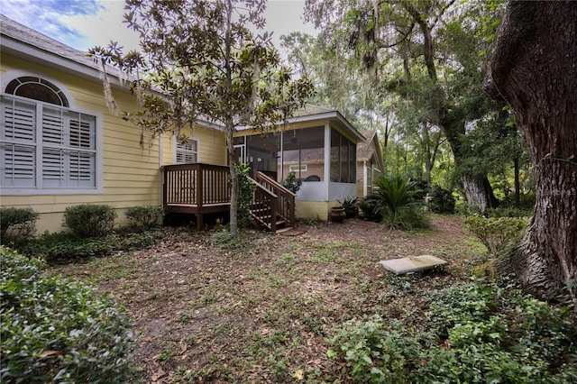
M 429 329 L 450 351 L 429 353 L 428 375 L 453 370 L 451 381 L 462 382 L 564 382 L 577 375 L 577 326 L 569 307 L 481 281 L 447 288 L 432 303 Z

